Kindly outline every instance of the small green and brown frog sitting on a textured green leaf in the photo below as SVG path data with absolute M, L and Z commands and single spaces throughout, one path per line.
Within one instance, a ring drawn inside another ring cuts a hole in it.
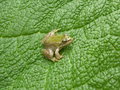
M 42 53 L 53 62 L 59 61 L 63 57 L 59 51 L 73 42 L 73 38 L 67 34 L 56 34 L 58 31 L 59 29 L 52 30 L 42 40 L 42 44 L 45 47 L 42 49 Z

